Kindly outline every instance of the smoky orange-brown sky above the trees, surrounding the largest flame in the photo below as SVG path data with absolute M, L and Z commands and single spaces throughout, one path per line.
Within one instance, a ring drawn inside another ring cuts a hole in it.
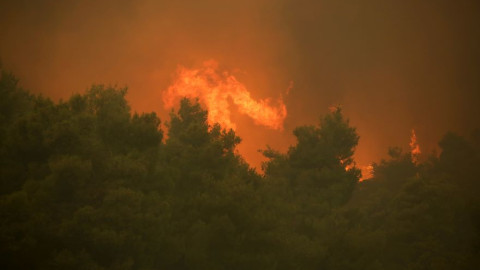
M 408 149 L 412 128 L 429 152 L 447 130 L 479 127 L 479 25 L 479 2 L 461 0 L 0 1 L 0 58 L 22 87 L 55 100 L 128 86 L 133 110 L 163 122 L 177 66 L 214 59 L 254 99 L 283 95 L 283 130 L 232 105 L 252 165 L 332 105 L 357 127 L 366 165 L 389 146 Z

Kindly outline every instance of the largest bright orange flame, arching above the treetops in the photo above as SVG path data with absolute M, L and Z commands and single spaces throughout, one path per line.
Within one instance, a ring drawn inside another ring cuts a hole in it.
M 220 72 L 214 60 L 204 62 L 200 69 L 178 67 L 174 83 L 163 93 L 165 108 L 172 108 L 180 97 L 198 97 L 207 106 L 209 124 L 226 128 L 236 128 L 230 119 L 228 98 L 257 125 L 281 130 L 287 116 L 282 98 L 276 107 L 270 105 L 270 99 L 254 100 L 245 85 L 227 71 Z

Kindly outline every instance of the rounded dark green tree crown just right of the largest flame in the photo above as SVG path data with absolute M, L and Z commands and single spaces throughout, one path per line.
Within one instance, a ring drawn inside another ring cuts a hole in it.
M 285 188 L 299 194 L 295 197 L 309 195 L 332 206 L 343 204 L 360 176 L 352 166 L 359 138 L 355 128 L 337 108 L 320 121 L 319 127 L 298 127 L 293 133 L 298 142 L 286 155 L 264 151 L 270 159 L 264 164 L 266 177 L 285 178 Z

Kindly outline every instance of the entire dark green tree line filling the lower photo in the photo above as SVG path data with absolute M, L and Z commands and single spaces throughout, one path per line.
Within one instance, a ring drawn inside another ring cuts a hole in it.
M 480 133 L 421 163 L 398 148 L 359 182 L 340 109 L 267 148 L 183 99 L 160 129 L 126 89 L 58 103 L 0 79 L 1 269 L 475 269 Z M 346 169 L 348 168 L 348 169 Z

